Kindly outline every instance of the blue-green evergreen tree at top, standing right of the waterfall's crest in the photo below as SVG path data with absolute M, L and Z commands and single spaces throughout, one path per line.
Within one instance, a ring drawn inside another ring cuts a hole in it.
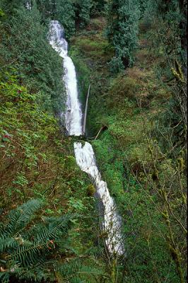
M 120 71 L 134 62 L 139 32 L 139 2 L 112 0 L 107 4 L 107 37 L 114 45 L 112 71 Z

